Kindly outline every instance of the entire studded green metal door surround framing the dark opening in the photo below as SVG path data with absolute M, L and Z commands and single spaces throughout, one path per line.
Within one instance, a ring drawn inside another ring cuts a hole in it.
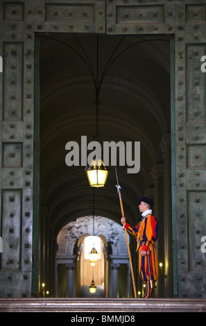
M 31 296 L 32 246 L 37 246 L 32 237 L 37 221 L 33 215 L 35 33 L 46 32 L 174 37 L 175 295 L 205 298 L 205 253 L 200 250 L 206 235 L 205 72 L 201 70 L 206 55 L 205 6 L 196 0 L 187 4 L 181 0 L 1 1 L 1 297 Z

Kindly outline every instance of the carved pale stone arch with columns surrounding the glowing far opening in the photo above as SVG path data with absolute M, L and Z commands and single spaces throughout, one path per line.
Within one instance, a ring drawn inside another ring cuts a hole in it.
M 85 237 L 93 235 L 93 216 L 83 216 L 71 221 L 60 230 L 56 253 L 57 270 L 60 264 L 67 268 L 67 296 L 78 296 L 80 279 L 78 261 L 81 255 L 81 242 Z M 121 225 L 110 218 L 94 216 L 94 236 L 103 240 L 103 252 L 106 258 L 107 282 L 105 293 L 116 297 L 118 292 L 118 270 L 122 264 L 129 268 L 126 237 Z M 57 273 L 58 275 L 58 273 Z M 129 288 L 130 283 L 126 284 Z M 110 291 L 108 291 L 110 288 Z M 128 291 L 125 290 L 125 291 Z M 58 293 L 58 277 L 56 279 L 56 293 Z

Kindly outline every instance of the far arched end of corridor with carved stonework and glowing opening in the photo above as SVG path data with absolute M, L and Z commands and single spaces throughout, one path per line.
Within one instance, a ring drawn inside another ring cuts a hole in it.
M 91 237 L 94 221 L 94 236 L 100 240 L 98 261 L 94 268 L 85 255 L 88 247 L 85 239 Z M 130 280 L 123 280 L 122 271 L 129 268 L 126 238 L 121 226 L 102 216 L 83 216 L 70 222 L 58 234 L 56 256 L 56 293 L 60 297 L 80 297 L 87 295 L 89 285 L 94 280 L 101 296 L 105 298 L 130 296 Z M 119 287 L 119 279 L 124 286 Z M 103 291 L 102 291 L 103 290 Z M 88 293 L 89 294 L 89 293 Z

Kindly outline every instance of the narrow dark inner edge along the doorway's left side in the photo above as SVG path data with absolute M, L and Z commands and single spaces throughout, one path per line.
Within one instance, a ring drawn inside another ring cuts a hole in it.
M 39 194 L 40 194 L 40 42 L 35 37 L 33 153 L 33 269 L 31 293 L 39 293 Z

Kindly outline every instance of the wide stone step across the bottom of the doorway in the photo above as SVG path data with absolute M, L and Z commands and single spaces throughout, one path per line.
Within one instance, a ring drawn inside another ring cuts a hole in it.
M 0 312 L 206 312 L 206 299 L 0 298 Z

